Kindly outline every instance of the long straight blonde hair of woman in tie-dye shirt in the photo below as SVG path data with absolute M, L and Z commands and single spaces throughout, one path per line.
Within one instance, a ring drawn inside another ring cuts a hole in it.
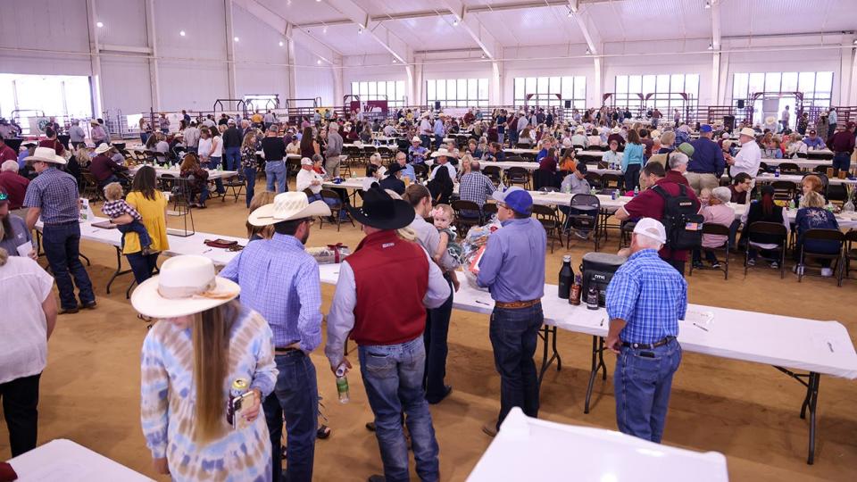
M 207 445 L 226 432 L 226 394 L 229 372 L 229 331 L 238 305 L 230 302 L 194 315 L 194 386 L 196 386 L 195 436 Z

